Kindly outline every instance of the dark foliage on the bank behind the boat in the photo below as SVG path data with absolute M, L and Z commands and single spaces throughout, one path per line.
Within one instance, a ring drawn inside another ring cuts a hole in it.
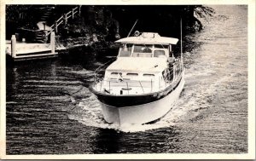
M 38 14 L 32 14 L 45 5 L 8 5 L 6 20 L 17 26 L 32 28 L 38 23 Z M 55 16 L 67 13 L 73 6 L 55 5 Z M 64 12 L 65 11 L 65 12 Z M 183 31 L 195 32 L 203 25 L 197 17 L 207 19 L 214 10 L 202 5 L 90 5 L 82 6 L 81 15 L 74 20 L 68 20 L 67 26 L 60 28 L 62 37 L 88 37 L 93 33 L 103 37 L 106 41 L 113 41 L 117 35 L 126 37 L 134 22 L 137 21 L 132 32 L 159 32 L 160 35 L 178 37 L 180 20 L 183 20 Z M 22 19 L 20 19 L 22 18 Z M 54 20 L 49 20 L 53 23 Z M 7 23 L 9 25 L 9 23 Z M 50 25 L 50 24 L 49 24 Z

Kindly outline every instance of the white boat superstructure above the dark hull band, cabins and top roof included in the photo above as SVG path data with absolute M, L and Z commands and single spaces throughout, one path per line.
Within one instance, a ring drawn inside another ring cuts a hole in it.
M 99 88 L 112 95 L 141 95 L 165 89 L 181 67 L 172 55 L 172 44 L 177 41 L 151 32 L 116 41 L 120 43 L 117 60 L 106 69 Z

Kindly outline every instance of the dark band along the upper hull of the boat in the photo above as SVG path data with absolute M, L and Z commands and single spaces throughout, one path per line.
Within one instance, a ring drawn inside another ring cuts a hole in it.
M 174 85 L 170 85 L 166 89 L 147 95 L 107 95 L 97 92 L 95 89 L 92 88 L 92 86 L 90 86 L 90 91 L 96 95 L 99 101 L 109 106 L 137 106 L 150 103 L 152 101 L 158 101 L 166 95 L 169 95 L 173 90 L 177 88 L 177 86 L 181 82 L 181 79 L 182 75 L 179 76 L 177 83 L 175 83 Z

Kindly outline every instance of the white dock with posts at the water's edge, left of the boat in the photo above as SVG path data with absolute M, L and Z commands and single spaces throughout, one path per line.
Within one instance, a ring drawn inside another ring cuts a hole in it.
M 53 58 L 64 49 L 55 47 L 55 32 L 51 32 L 50 43 L 17 43 L 15 35 L 6 43 L 6 54 L 14 61 Z

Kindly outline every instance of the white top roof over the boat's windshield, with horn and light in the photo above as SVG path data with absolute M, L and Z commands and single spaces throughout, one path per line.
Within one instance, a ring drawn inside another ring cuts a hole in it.
M 155 32 L 143 32 L 138 37 L 121 38 L 115 43 L 140 43 L 140 44 L 177 44 L 178 39 L 173 37 L 160 37 Z

